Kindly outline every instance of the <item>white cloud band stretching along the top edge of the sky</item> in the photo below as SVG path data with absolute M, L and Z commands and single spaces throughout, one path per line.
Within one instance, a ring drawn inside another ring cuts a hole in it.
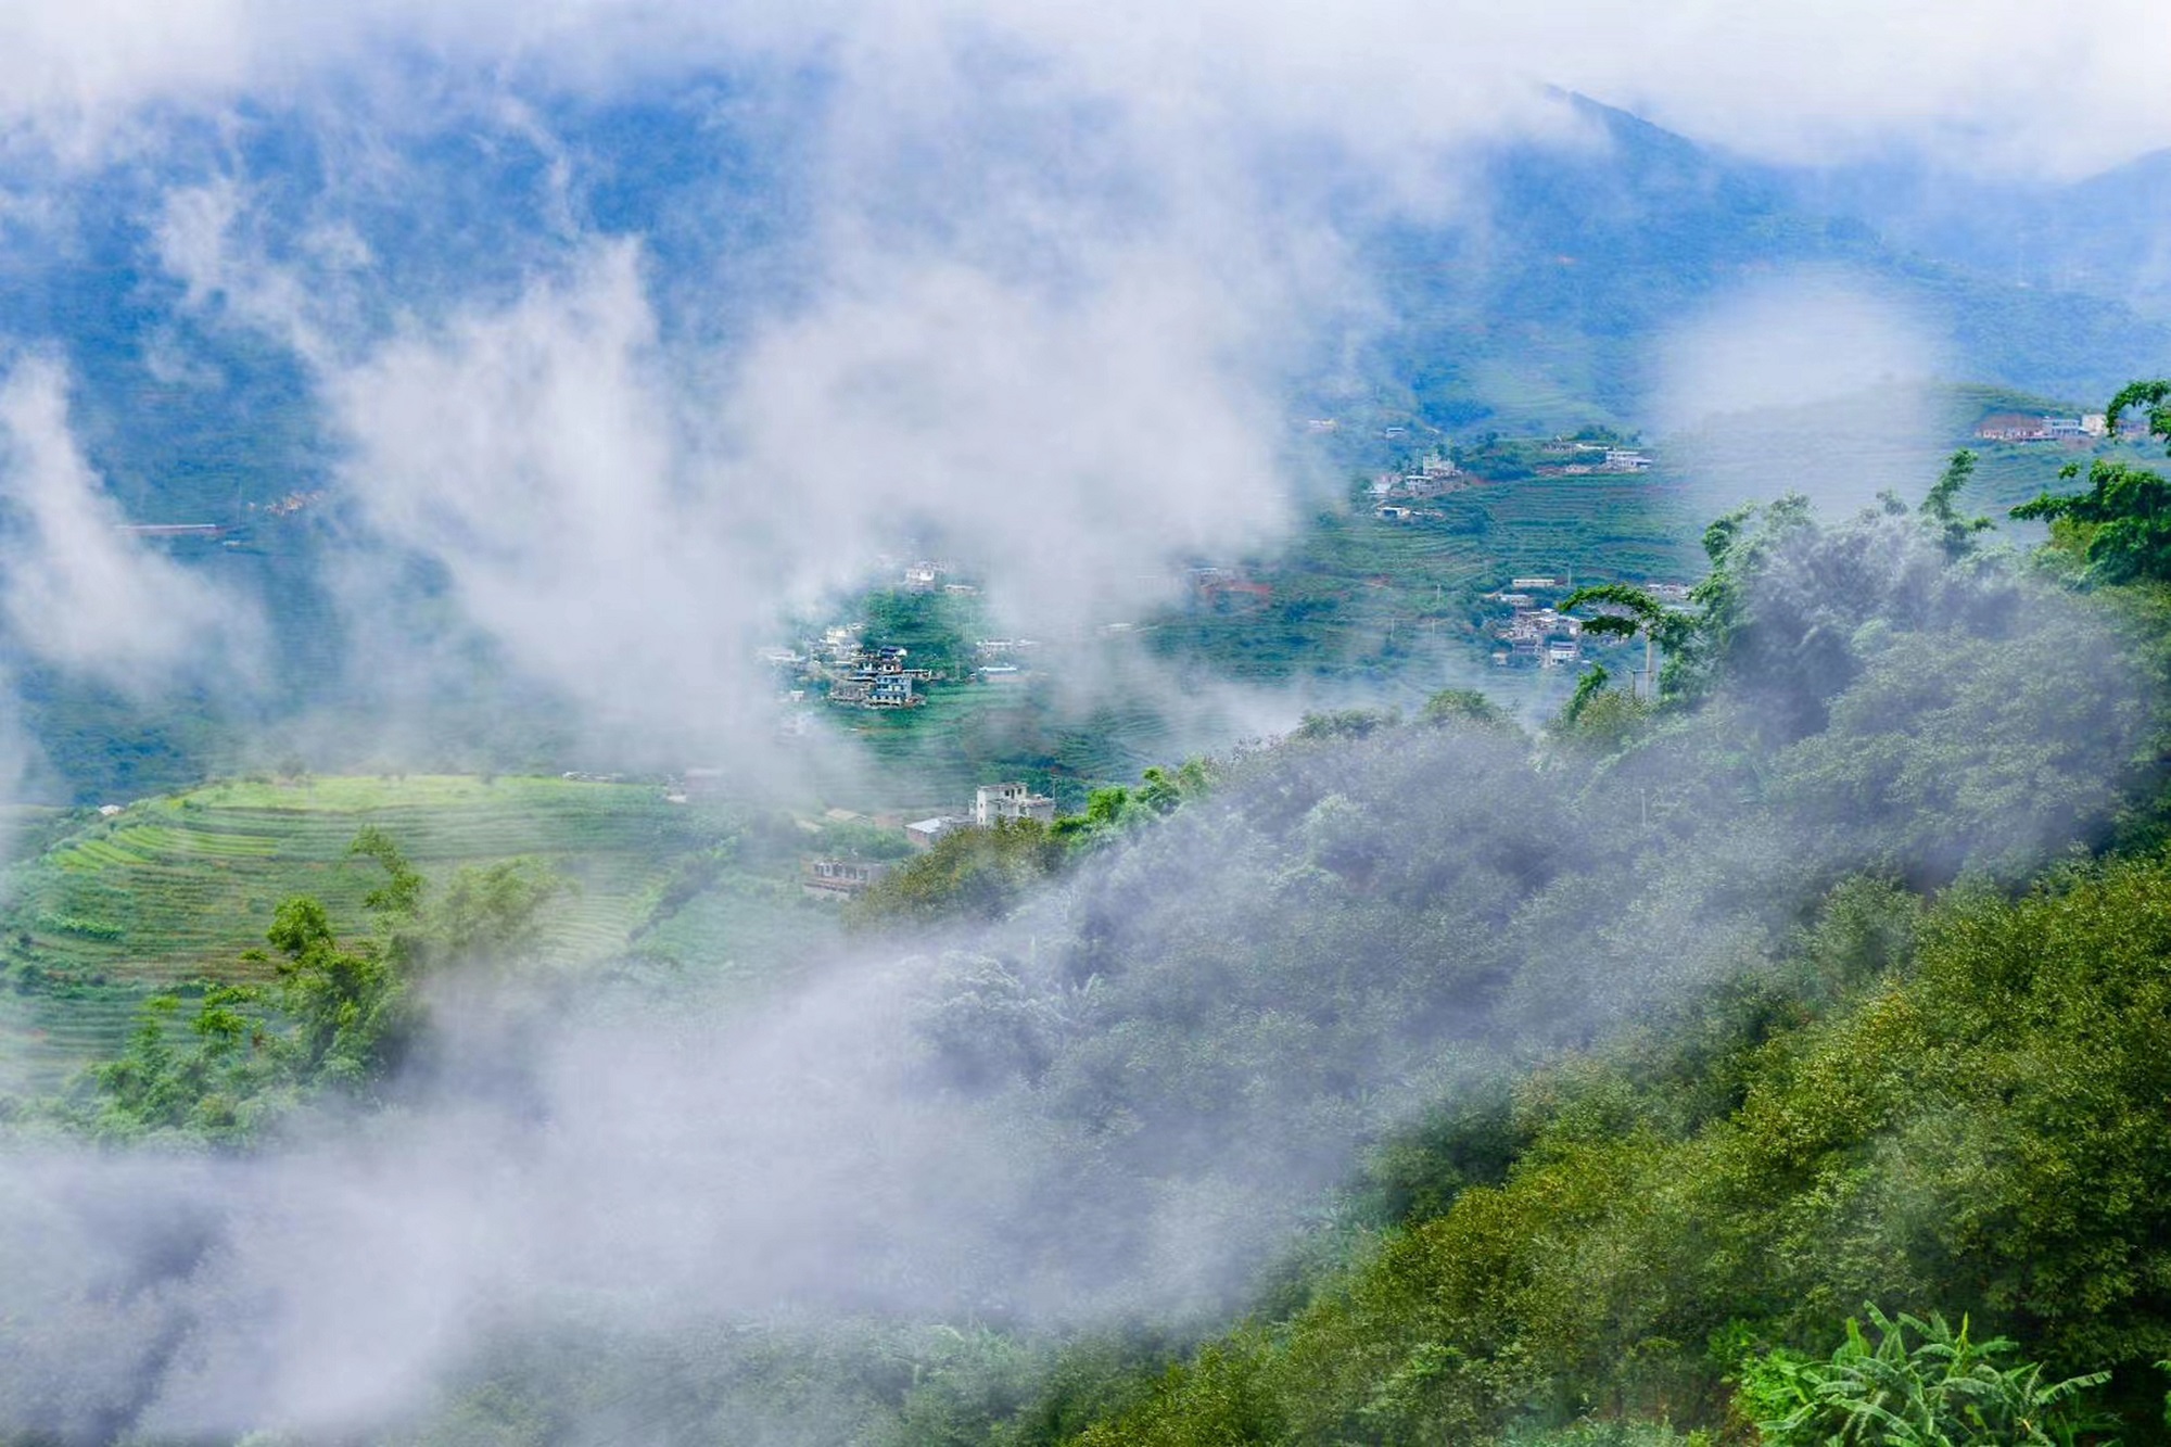
M 17 0 L 0 7 L 0 115 L 98 146 L 128 135 L 145 104 L 297 91 L 386 43 L 582 87 L 821 59 L 894 100 L 927 93 L 918 83 L 960 37 L 1014 46 L 1053 83 L 1133 104 L 1168 135 L 1318 128 L 1376 156 L 1528 122 L 1531 83 L 1643 106 L 1767 156 L 1897 135 L 1960 161 L 2082 172 L 2171 141 L 2171 96 L 2154 83 L 2171 35 L 2149 0 L 2110 0 L 2084 22 L 2043 0 Z

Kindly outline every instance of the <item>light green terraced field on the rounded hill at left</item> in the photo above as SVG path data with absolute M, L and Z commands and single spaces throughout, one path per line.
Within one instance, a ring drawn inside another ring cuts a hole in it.
M 560 965 L 632 949 L 677 962 L 753 969 L 792 939 L 831 930 L 797 897 L 790 860 L 732 867 L 686 910 L 701 926 L 645 939 L 673 913 L 664 882 L 693 854 L 729 839 L 725 808 L 669 804 L 662 789 L 558 778 L 326 778 L 219 782 L 100 817 L 37 817 L 43 852 L 17 865 L 0 910 L 0 1089 L 50 1084 L 111 1054 L 145 993 L 176 982 L 241 980 L 280 899 L 308 893 L 337 921 L 363 919 L 382 878 L 347 856 L 371 823 L 426 878 L 462 865 L 538 858 L 573 889 L 551 904 L 547 954 Z M 74 826 L 74 828 L 67 828 Z M 736 949 L 727 960 L 710 952 Z

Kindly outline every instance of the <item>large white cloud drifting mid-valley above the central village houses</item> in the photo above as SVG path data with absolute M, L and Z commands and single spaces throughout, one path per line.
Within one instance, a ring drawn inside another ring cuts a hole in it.
M 441 563 L 523 669 L 604 717 L 747 734 L 775 615 L 912 530 L 1042 628 L 1133 617 L 1170 558 L 1274 534 L 1246 315 L 1181 256 L 1059 298 L 910 261 L 725 367 L 662 350 L 621 243 L 408 328 L 326 393 L 360 515 Z

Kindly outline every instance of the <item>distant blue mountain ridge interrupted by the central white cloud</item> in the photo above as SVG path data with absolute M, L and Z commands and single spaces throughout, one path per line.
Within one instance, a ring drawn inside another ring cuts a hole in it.
M 1954 380 L 2093 400 L 2171 369 L 2171 324 L 2149 315 L 2171 269 L 2171 156 L 2073 187 L 1967 189 L 1921 167 L 1902 185 L 1893 167 L 1759 165 L 1563 102 L 1604 146 L 1498 146 L 1476 159 L 1478 222 L 1355 237 L 1387 322 L 1355 374 L 1322 358 L 1318 406 L 1355 398 L 1444 430 L 1633 424 L 1652 341 L 1787 267 L 1839 267 L 1910 304 L 1941 330 Z M 297 358 L 182 304 L 156 256 L 174 187 L 234 178 L 243 241 L 271 259 L 334 226 L 354 235 L 369 285 L 347 322 L 365 335 L 510 298 L 571 246 L 623 235 L 645 248 L 666 337 L 727 345 L 810 285 L 803 137 L 818 128 L 801 122 L 818 104 L 821 80 L 795 76 L 538 102 L 493 124 L 419 117 L 397 135 L 328 128 L 323 106 L 176 122 L 156 156 L 56 191 L 37 230 L 0 230 L 0 337 L 67 356 L 78 426 L 130 515 L 226 521 L 323 478 L 330 443 Z M 2021 274 L 2006 265 L 2017 237 L 2036 239 Z

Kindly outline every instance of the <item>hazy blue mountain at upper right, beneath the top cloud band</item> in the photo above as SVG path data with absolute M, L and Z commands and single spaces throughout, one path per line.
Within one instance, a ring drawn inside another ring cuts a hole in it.
M 1789 172 L 1580 96 L 1563 104 L 1583 139 L 1481 156 L 1481 219 L 1366 237 L 1394 315 L 1370 358 L 1383 415 L 1450 430 L 1643 419 L 1650 358 L 1672 328 L 1804 272 L 1900 302 L 1960 380 L 2095 400 L 2171 363 L 2171 324 L 2134 311 L 2128 267 L 2015 280 L 1995 265 L 1991 222 L 1887 232 L 1863 204 L 1878 193 L 1867 172 Z M 2171 163 L 2062 189 L 2041 215 L 2084 215 L 2060 235 L 2136 254 L 2156 246 L 2151 198 L 2167 176 Z

